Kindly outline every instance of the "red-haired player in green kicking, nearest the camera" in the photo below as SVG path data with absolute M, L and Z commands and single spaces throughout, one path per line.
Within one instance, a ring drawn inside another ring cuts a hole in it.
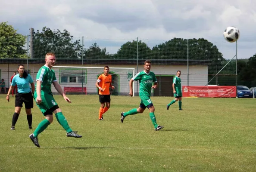
M 51 84 L 59 92 L 63 98 L 71 103 L 69 98 L 62 91 L 61 86 L 56 80 L 55 72 L 52 70 L 56 62 L 55 54 L 49 52 L 45 55 L 45 65 L 41 67 L 37 73 L 36 77 L 36 91 L 34 92 L 34 100 L 36 101 L 37 106 L 40 111 L 44 114 L 45 119 L 38 124 L 37 128 L 34 130 L 34 133 L 29 135 L 31 141 L 34 145 L 40 147 L 38 143 L 37 136 L 53 122 L 53 113 L 59 124 L 66 130 L 68 137 L 81 138 L 81 135 L 78 135 L 76 132 L 70 129 L 69 124 L 66 118 L 63 116 L 61 109 L 53 98 L 53 93 L 51 91 Z

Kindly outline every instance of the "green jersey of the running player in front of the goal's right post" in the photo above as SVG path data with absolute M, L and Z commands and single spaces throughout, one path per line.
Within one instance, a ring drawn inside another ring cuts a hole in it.
M 145 71 L 141 71 L 137 73 L 132 80 L 139 81 L 140 83 L 140 96 L 150 96 L 152 83 L 156 83 L 156 75 L 153 72 L 149 72 L 148 74 Z

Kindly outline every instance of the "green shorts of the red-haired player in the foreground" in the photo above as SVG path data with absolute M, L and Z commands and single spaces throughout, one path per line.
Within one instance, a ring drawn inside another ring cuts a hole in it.
M 40 111 L 44 114 L 46 111 L 49 111 L 53 106 L 58 105 L 55 99 L 53 98 L 53 94 L 51 92 L 43 92 L 41 91 L 42 102 L 37 104 Z M 37 93 L 34 92 L 34 100 L 37 100 Z

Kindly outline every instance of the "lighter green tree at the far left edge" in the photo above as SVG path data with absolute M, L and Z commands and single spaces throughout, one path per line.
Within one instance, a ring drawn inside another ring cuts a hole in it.
M 27 58 L 26 36 L 17 34 L 17 30 L 7 23 L 0 23 L 0 58 Z

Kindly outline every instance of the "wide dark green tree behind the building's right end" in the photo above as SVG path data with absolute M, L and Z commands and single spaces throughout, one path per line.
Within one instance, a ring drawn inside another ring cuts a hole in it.
M 188 45 L 188 46 L 187 46 Z M 223 67 L 222 61 L 225 59 L 219 52 L 217 46 L 208 40 L 173 38 L 165 43 L 156 45 L 152 49 L 154 59 L 187 59 L 204 61 L 208 65 L 208 74 L 216 74 Z M 178 62 L 177 62 L 178 63 Z

